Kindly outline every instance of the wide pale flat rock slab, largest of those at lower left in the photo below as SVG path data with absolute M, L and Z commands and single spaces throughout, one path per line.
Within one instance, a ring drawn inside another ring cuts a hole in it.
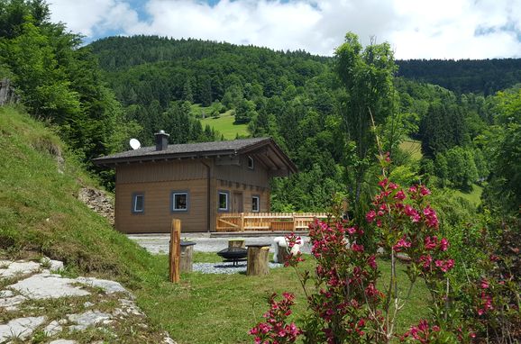
M 33 299 L 85 296 L 90 294 L 87 290 L 72 285 L 76 282 L 76 280 L 70 278 L 39 274 L 18 281 L 14 285 L 9 285 L 9 287 Z

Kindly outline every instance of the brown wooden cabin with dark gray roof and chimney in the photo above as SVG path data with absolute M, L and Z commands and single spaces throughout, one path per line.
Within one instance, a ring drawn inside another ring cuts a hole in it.
M 270 212 L 270 177 L 297 167 L 270 138 L 168 144 L 95 158 L 115 168 L 115 228 L 125 233 L 215 231 L 218 213 Z

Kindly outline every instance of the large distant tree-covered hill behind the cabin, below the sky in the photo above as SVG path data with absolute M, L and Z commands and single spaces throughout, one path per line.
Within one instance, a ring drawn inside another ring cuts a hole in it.
M 304 51 L 157 36 L 111 37 L 89 47 L 123 105 L 157 100 L 161 108 L 174 100 L 208 106 L 244 83 L 262 86 L 267 96 L 281 94 L 289 84 L 304 86 L 323 72 L 326 60 Z

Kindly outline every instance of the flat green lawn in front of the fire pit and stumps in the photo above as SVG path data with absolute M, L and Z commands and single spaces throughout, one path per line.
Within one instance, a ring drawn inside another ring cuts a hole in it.
M 215 253 L 194 255 L 195 261 L 218 262 Z M 138 303 L 160 328 L 168 330 L 179 344 L 183 343 L 250 343 L 247 331 L 262 321 L 268 310 L 267 297 L 276 292 L 295 293 L 295 314 L 306 313 L 306 298 L 291 268 L 275 268 L 268 276 L 209 275 L 197 272 L 181 275 L 178 285 L 167 282 L 168 258 L 156 257 L 157 279 L 137 291 Z M 389 275 L 389 263 L 379 260 L 382 274 Z M 313 269 L 307 257 L 304 266 Z M 398 278 L 406 281 L 403 266 L 398 267 Z M 400 289 L 405 294 L 408 285 Z M 417 284 L 411 300 L 400 313 L 398 329 L 403 331 L 428 312 L 430 296 L 425 286 Z M 298 321 L 299 318 L 297 318 Z

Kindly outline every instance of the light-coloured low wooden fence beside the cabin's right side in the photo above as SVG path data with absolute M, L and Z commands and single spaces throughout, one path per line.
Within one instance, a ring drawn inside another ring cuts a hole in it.
M 216 231 L 306 231 L 315 219 L 331 218 L 328 213 L 220 213 Z

